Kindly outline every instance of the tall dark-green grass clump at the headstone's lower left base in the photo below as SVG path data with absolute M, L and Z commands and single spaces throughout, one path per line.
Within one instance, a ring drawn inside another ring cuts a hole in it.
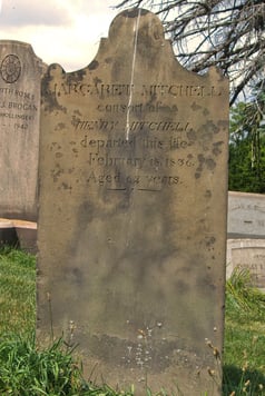
M 61 339 L 38 349 L 35 337 L 8 336 L 0 341 L 0 394 L 12 396 L 117 395 L 107 385 L 85 382 L 72 350 Z M 124 395 L 130 395 L 129 393 Z

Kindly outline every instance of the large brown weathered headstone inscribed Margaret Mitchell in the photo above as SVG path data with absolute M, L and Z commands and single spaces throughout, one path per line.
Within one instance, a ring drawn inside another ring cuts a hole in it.
M 176 61 L 146 10 L 42 80 L 38 335 L 91 379 L 219 395 L 228 81 Z M 218 352 L 217 352 L 218 350 Z

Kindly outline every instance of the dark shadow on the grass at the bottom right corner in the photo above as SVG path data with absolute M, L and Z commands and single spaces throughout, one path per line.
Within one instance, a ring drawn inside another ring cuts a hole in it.
M 225 365 L 223 367 L 223 396 L 230 395 L 264 396 L 265 375 L 258 370 Z

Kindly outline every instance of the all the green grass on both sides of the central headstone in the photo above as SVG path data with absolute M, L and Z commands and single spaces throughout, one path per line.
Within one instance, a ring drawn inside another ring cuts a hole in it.
M 1 395 L 134 395 L 86 382 L 62 340 L 38 349 L 33 256 L 1 248 L 0 285 Z M 223 395 L 265 396 L 265 294 L 251 287 L 245 269 L 233 273 L 226 289 Z

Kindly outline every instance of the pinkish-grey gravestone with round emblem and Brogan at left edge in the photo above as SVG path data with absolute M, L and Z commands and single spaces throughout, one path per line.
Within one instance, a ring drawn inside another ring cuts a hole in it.
M 36 220 L 40 79 L 30 44 L 0 40 L 0 217 Z

